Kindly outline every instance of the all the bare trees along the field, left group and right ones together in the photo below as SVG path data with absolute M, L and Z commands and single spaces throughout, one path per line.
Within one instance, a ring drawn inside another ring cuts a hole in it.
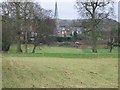
M 104 19 L 114 16 L 114 2 L 112 0 L 104 2 L 101 0 L 86 0 L 86 2 L 76 1 L 76 8 L 82 18 L 87 22 L 82 23 L 89 32 L 92 46 L 92 52 L 97 53 L 97 41 L 100 37 L 99 24 Z M 16 52 L 23 52 L 21 48 L 21 27 L 24 31 L 25 52 L 27 53 L 28 31 L 30 23 L 34 34 L 34 47 L 40 43 L 52 43 L 52 34 L 55 29 L 55 21 L 52 19 L 52 11 L 43 9 L 38 3 L 33 2 L 2 2 L 0 3 L 2 18 L 2 50 L 8 51 L 12 43 L 17 43 Z M 22 25 L 22 26 L 21 26 Z M 75 33 L 74 33 L 75 34 Z M 88 34 L 86 34 L 88 35 Z M 111 33 L 112 36 L 112 33 Z M 74 38 L 78 36 L 75 34 Z M 112 42 L 112 38 L 111 38 Z M 111 50 L 112 51 L 112 45 Z

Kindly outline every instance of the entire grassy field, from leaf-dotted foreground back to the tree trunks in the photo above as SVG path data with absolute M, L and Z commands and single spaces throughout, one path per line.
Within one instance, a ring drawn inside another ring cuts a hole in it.
M 38 47 L 16 53 L 12 46 L 2 59 L 3 88 L 117 88 L 118 50 Z M 24 46 L 22 46 L 24 49 Z

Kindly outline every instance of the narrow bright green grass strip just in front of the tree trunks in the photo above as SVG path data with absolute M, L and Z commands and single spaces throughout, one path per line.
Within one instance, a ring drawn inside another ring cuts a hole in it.
M 57 58 L 117 58 L 118 54 L 93 54 L 93 53 L 83 53 L 83 54 L 72 54 L 72 53 L 21 53 L 21 54 L 4 54 L 4 56 L 12 57 L 57 57 Z

